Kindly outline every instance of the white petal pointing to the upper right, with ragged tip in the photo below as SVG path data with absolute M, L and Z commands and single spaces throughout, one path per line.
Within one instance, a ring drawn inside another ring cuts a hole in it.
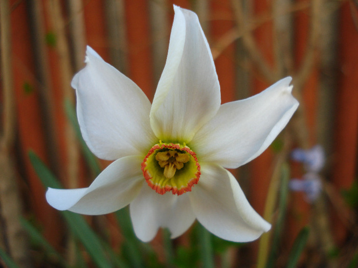
M 251 98 L 221 105 L 188 144 L 199 161 L 235 168 L 266 150 L 298 107 L 290 81 L 287 77 Z

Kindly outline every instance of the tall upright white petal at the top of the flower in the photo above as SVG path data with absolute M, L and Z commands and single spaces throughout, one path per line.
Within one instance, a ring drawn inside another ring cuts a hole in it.
M 195 13 L 174 6 L 175 16 L 150 124 L 163 141 L 189 142 L 220 106 L 213 58 Z

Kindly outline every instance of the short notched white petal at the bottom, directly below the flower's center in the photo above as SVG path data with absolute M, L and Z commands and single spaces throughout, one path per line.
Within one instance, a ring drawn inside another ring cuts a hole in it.
M 144 242 L 152 240 L 160 227 L 168 228 L 171 238 L 180 236 L 195 221 L 187 194 L 166 192 L 162 196 L 146 183 L 129 208 L 133 229 Z

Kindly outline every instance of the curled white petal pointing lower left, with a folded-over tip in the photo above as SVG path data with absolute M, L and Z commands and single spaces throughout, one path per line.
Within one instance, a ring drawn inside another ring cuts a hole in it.
M 53 189 L 46 192 L 47 202 L 59 210 L 86 215 L 106 214 L 135 199 L 144 180 L 142 157 L 128 156 L 111 163 L 88 188 Z

